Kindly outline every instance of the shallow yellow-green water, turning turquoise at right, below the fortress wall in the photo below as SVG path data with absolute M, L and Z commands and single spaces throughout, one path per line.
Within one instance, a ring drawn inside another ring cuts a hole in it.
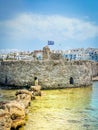
M 4 95 L 0 99 L 9 100 L 15 91 L 0 93 Z M 98 130 L 98 82 L 86 88 L 42 91 L 31 102 L 26 120 L 19 130 Z

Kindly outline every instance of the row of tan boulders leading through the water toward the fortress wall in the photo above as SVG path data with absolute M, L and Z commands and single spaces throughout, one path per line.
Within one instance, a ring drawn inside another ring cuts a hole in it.
M 15 130 L 25 125 L 27 108 L 35 96 L 41 96 L 41 86 L 31 86 L 29 90 L 18 90 L 15 96 L 15 100 L 0 102 L 0 130 Z

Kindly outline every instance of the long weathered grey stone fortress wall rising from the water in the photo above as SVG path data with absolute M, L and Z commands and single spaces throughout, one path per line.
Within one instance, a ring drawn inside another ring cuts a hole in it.
M 34 85 L 36 76 L 43 89 L 78 87 L 90 85 L 95 75 L 98 75 L 98 63 L 89 61 L 0 62 L 0 83 L 12 86 Z

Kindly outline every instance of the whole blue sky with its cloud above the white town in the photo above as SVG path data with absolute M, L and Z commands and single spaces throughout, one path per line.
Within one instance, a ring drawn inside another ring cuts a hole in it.
M 0 0 L 0 49 L 98 48 L 98 0 Z

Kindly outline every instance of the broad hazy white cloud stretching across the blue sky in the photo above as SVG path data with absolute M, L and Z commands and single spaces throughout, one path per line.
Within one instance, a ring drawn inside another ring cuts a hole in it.
M 4 31 L 10 40 L 51 39 L 62 42 L 70 39 L 84 41 L 98 36 L 98 25 L 59 15 L 21 14 L 0 25 L 5 27 Z

